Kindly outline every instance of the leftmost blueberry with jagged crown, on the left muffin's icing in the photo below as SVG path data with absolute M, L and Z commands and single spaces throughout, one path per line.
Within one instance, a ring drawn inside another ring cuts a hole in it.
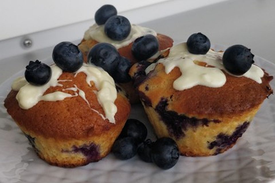
M 44 85 L 50 81 L 52 69 L 45 63 L 36 60 L 26 66 L 25 78 L 32 85 Z

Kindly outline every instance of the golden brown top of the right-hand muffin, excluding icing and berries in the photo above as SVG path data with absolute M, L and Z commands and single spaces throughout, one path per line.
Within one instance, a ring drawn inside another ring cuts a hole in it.
M 261 104 L 272 93 L 269 82 L 273 77 L 266 72 L 261 84 L 223 71 L 226 83 L 222 87 L 197 85 L 178 91 L 173 88 L 174 81 L 181 75 L 178 67 L 166 74 L 164 65 L 158 63 L 153 71 L 145 75 L 147 66 L 146 62 L 136 63 L 129 72 L 141 100 L 153 108 L 160 101 L 167 100 L 166 110 L 187 116 L 215 119 L 217 116 L 239 114 Z

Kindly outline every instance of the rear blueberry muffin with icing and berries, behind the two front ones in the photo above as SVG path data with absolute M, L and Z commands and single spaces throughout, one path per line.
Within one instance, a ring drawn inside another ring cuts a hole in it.
M 154 30 L 130 24 L 126 17 L 118 16 L 117 10 L 112 5 L 104 5 L 95 13 L 96 23 L 84 34 L 78 47 L 83 53 L 84 62 L 91 61 L 90 49 L 97 43 L 110 43 L 121 56 L 121 64 L 113 62 L 111 65 L 115 72 L 126 73 L 124 77 L 120 74 L 109 73 L 119 83 L 129 96 L 130 102 L 135 103 L 138 97 L 132 87 L 131 78 L 128 75 L 131 65 L 137 61 L 148 59 L 153 61 L 160 55 L 169 53 L 173 40 Z M 142 57 L 141 57 L 142 56 Z M 110 64 L 110 63 L 109 63 Z M 98 66 L 104 68 L 104 63 Z

